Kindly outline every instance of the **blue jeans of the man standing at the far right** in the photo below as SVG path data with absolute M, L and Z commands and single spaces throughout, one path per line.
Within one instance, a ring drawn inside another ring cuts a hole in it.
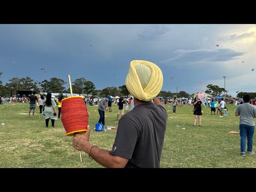
M 240 152 L 245 153 L 246 148 L 246 137 L 247 137 L 247 152 L 252 152 L 252 138 L 255 126 L 249 126 L 246 124 L 240 124 Z

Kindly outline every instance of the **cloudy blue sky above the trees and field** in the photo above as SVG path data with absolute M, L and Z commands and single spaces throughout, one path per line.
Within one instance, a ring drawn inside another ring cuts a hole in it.
M 70 74 L 96 89 L 121 86 L 130 61 L 148 60 L 162 69 L 162 90 L 176 92 L 178 86 L 192 94 L 208 84 L 224 87 L 226 76 L 226 90 L 235 96 L 255 92 L 255 48 L 255 24 L 0 25 L 4 84 L 14 76 L 67 82 Z

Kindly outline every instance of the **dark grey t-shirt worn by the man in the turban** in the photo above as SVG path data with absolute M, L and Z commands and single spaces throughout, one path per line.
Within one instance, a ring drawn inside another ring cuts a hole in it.
M 126 168 L 160 168 L 166 124 L 164 107 L 137 105 L 119 120 L 110 154 L 129 159 Z

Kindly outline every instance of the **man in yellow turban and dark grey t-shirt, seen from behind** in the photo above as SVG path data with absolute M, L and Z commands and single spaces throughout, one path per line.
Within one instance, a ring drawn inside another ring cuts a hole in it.
M 156 64 L 130 62 L 126 87 L 134 97 L 134 108 L 119 120 L 112 150 L 90 144 L 89 126 L 86 133 L 75 134 L 74 148 L 108 168 L 160 168 L 167 124 L 166 109 L 157 98 L 162 84 L 162 71 Z

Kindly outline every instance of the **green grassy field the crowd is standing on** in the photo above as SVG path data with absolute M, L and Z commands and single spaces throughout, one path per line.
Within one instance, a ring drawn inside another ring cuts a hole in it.
M 239 117 L 234 115 L 236 106 L 228 105 L 228 118 L 210 115 L 204 108 L 202 127 L 193 127 L 192 107 L 178 106 L 176 114 L 168 105 L 168 124 L 160 166 L 162 168 L 252 168 L 256 156 L 238 156 L 240 152 Z M 28 118 L 28 104 L 11 103 L 0 106 L 0 168 L 100 168 L 84 152 L 80 162 L 79 152 L 72 147 L 72 136 L 66 136 L 61 120 L 55 128 L 45 128 L 44 118 Z M 10 110 L 12 109 L 12 110 Z M 111 150 L 116 130 L 95 132 L 98 122 L 98 106 L 88 106 L 90 142 L 99 148 Z M 24 114 L 20 114 L 24 113 Z M 106 126 L 115 124 L 117 106 L 105 112 Z M 4 125 L 2 125 L 4 123 Z M 182 128 L 185 128 L 183 130 Z M 172 142 L 174 141 L 174 142 Z M 255 144 L 255 137 L 254 137 Z M 253 145 L 255 150 L 255 145 Z

